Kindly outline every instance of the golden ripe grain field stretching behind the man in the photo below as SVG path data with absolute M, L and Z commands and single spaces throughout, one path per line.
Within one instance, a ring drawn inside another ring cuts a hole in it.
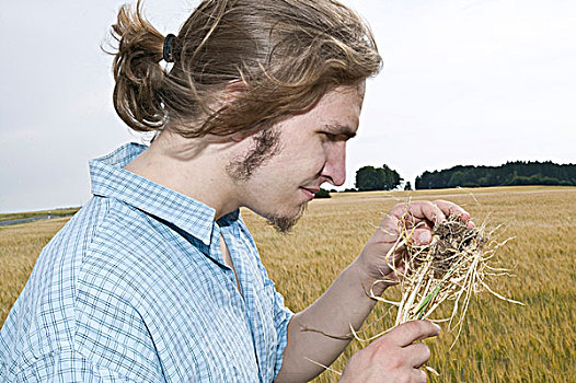
M 428 365 L 440 372 L 431 382 L 576 382 L 576 188 L 497 187 L 393 193 L 333 194 L 314 200 L 289 235 L 243 211 L 264 264 L 292 311 L 313 302 L 361 251 L 383 214 L 408 198 L 448 199 L 488 227 L 503 223 L 499 239 L 514 236 L 496 253 L 495 265 L 515 277 L 491 286 L 526 305 L 500 301 L 487 292 L 472 300 L 462 334 L 442 332 L 427 340 Z M 67 218 L 0 228 L 0 323 L 24 287 L 42 247 Z M 395 299 L 391 288 L 385 298 Z M 367 323 L 389 310 L 379 303 Z M 377 334 L 393 314 L 368 328 Z M 365 346 L 365 345 L 364 345 Z M 333 364 L 342 371 L 362 344 L 354 340 Z M 326 371 L 314 382 L 336 382 Z

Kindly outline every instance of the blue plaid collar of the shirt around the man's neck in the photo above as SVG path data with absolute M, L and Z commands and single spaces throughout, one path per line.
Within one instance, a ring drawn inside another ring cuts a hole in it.
M 91 160 L 92 194 L 119 199 L 174 224 L 209 246 L 215 209 L 123 169 L 147 148 L 131 142 L 105 156 Z M 238 216 L 237 210 L 220 220 L 235 221 Z

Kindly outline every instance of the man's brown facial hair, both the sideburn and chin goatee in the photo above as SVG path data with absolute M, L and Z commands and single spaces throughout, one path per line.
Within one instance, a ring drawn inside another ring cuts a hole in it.
M 254 136 L 253 140 L 254 148 L 244 158 L 231 161 L 226 167 L 228 175 L 234 182 L 249 181 L 256 169 L 280 151 L 279 134 L 275 129 L 262 130 Z M 307 207 L 308 202 L 302 204 L 297 214 L 272 213 L 262 216 L 278 233 L 288 234 L 302 217 Z

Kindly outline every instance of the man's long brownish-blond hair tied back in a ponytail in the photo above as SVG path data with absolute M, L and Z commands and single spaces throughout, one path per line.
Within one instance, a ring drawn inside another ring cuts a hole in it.
M 381 68 L 369 26 L 337 1 L 205 0 L 177 33 L 169 70 L 161 65 L 164 36 L 141 5 L 123 5 L 112 26 L 114 106 L 138 131 L 255 132 Z M 241 91 L 218 104 L 234 82 Z

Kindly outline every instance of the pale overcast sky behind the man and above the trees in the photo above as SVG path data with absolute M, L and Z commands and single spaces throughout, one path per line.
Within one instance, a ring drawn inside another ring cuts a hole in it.
M 576 1 L 348 0 L 384 69 L 368 82 L 347 181 L 514 160 L 576 163 Z M 80 206 L 88 160 L 138 135 L 112 105 L 100 45 L 124 1 L 4 1 L 0 12 L 0 211 Z M 148 0 L 164 34 L 197 1 Z

